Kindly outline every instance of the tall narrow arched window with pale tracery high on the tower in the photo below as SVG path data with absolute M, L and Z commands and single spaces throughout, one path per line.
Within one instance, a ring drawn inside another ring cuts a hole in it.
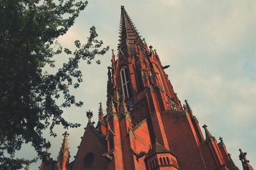
M 128 71 L 125 66 L 122 67 L 122 69 L 120 70 L 120 77 L 122 83 L 123 96 L 129 99 L 131 97 L 130 81 L 128 77 Z

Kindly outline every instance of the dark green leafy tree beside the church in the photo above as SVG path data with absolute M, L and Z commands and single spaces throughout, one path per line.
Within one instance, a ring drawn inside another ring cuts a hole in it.
M 83 105 L 70 94 L 70 88 L 78 88 L 83 81 L 78 64 L 80 60 L 90 64 L 109 47 L 103 48 L 97 40 L 95 27 L 90 28 L 84 45 L 74 42 L 74 52 L 56 39 L 74 24 L 86 4 L 75 0 L 0 0 L 0 169 L 28 164 L 29 160 L 13 159 L 23 143 L 31 142 L 42 157 L 44 129 L 56 136 L 55 125 L 79 127 L 61 117 L 63 108 Z M 45 66 L 54 67 L 54 56 L 60 53 L 70 56 L 68 62 L 55 74 L 43 73 Z M 58 104 L 58 99 L 64 102 Z

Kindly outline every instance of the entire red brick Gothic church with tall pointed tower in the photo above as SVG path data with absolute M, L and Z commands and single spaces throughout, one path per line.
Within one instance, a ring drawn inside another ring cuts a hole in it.
M 48 151 L 45 169 L 72 170 L 237 170 L 223 140 L 203 126 L 205 138 L 188 101 L 182 105 L 159 55 L 140 38 L 121 6 L 117 57 L 108 67 L 107 114 L 99 106 L 99 121 L 88 124 L 73 162 L 68 162 L 65 132 L 58 160 Z M 47 148 L 47 150 L 49 147 Z M 240 150 L 243 169 L 252 170 Z

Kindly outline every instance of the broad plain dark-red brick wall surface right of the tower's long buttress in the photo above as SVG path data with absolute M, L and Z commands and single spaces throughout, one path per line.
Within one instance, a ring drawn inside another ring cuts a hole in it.
M 206 169 L 189 116 L 184 112 L 166 112 L 163 123 L 170 152 L 177 157 L 180 170 Z

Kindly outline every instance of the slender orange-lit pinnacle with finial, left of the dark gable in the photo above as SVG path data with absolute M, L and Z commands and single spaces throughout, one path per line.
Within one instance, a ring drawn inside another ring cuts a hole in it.
M 68 152 L 68 132 L 65 131 L 65 133 L 63 134 L 64 139 L 63 139 L 63 143 L 61 145 L 60 148 L 60 153 L 58 155 L 58 168 L 61 170 L 66 170 L 67 169 L 67 164 L 69 162 L 69 157 L 70 154 Z

